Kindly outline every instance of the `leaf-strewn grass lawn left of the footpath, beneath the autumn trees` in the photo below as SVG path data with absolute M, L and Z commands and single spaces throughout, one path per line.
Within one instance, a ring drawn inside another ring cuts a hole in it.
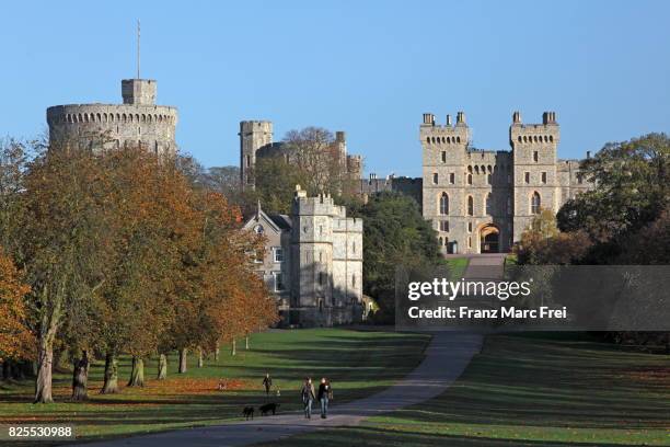
M 269 331 L 254 334 L 250 351 L 238 343 L 238 355 L 222 347 L 213 358 L 197 368 L 189 357 L 188 371 L 176 374 L 177 358 L 169 358 L 168 380 L 154 380 L 157 359 L 146 362 L 143 388 L 124 388 L 122 393 L 100 396 L 104 364 L 92 365 L 86 403 L 67 402 L 71 375 L 56 374 L 56 403 L 30 403 L 33 381 L 0 382 L 0 424 L 73 423 L 78 437 L 92 439 L 170 428 L 211 425 L 241 419 L 242 408 L 266 402 L 263 376 L 269 371 L 273 386 L 281 396 L 281 411 L 300 409 L 299 389 L 310 375 L 333 381 L 337 401 L 361 398 L 392 385 L 421 359 L 428 335 L 394 332 L 363 332 L 344 329 Z M 129 358 L 119 362 L 119 385 L 130 371 Z M 231 388 L 217 391 L 220 378 Z M 41 443 L 44 445 L 44 443 Z

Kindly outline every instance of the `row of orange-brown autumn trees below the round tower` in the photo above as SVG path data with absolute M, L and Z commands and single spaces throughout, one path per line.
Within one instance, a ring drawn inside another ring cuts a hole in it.
M 165 378 L 166 353 L 180 351 L 184 371 L 187 351 L 201 358 L 276 322 L 249 255 L 263 241 L 194 167 L 136 148 L 1 142 L 0 362 L 5 375 L 35 365 L 35 402 L 53 400 L 55 352 L 82 400 L 93 358 L 113 393 L 120 355 L 141 386 L 149 355 Z

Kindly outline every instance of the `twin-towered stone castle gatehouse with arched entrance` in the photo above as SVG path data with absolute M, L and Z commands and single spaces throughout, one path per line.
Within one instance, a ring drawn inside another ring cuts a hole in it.
M 424 114 L 423 214 L 432 221 L 443 253 L 508 252 L 540 209 L 556 213 L 587 190 L 578 160 L 557 159 L 561 131 L 554 112 L 542 124 L 522 124 L 515 112 L 511 151 L 470 147 L 465 114 L 436 124 Z

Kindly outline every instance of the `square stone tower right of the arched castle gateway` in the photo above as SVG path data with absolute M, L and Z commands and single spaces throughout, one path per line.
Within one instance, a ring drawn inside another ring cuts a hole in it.
M 556 173 L 561 129 L 554 112 L 542 114 L 542 124 L 522 124 L 512 114 L 509 142 L 513 158 L 513 240 L 530 226 L 538 208 L 556 213 L 562 203 Z

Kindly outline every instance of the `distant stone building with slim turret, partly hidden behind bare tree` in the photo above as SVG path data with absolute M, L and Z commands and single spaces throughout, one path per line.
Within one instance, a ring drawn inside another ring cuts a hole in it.
M 255 185 L 254 167 L 256 160 L 264 157 L 282 156 L 290 160 L 293 154 L 290 147 L 284 142 L 275 142 L 273 123 L 269 121 L 240 122 L 240 181 L 243 188 Z M 331 145 L 334 159 L 338 160 L 342 175 L 358 180 L 362 174 L 362 158 L 347 153 L 346 134 L 335 133 L 335 141 Z

